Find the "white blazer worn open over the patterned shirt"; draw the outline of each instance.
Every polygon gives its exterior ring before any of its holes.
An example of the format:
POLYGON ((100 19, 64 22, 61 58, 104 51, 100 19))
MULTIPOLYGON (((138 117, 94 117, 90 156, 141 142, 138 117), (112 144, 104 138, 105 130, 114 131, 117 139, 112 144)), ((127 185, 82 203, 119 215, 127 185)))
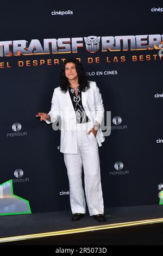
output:
MULTIPOLYGON (((89 132, 96 121, 101 124, 104 117, 103 100, 96 82, 90 81, 90 88, 86 92, 82 92, 82 104, 85 114, 91 120, 87 126, 87 132, 89 132)), ((54 123, 59 117, 61 119, 60 152, 76 154, 76 113, 68 90, 64 93, 60 87, 54 89, 51 111, 48 114, 51 121, 46 120, 47 124, 54 123)), ((97 131, 96 139, 98 146, 101 147, 101 143, 105 141, 101 127, 97 131)))

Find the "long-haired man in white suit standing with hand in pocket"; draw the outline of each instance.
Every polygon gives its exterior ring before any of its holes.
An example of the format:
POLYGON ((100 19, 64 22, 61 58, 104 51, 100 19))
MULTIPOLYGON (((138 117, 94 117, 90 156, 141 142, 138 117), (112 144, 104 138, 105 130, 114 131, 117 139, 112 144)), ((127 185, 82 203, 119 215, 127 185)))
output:
POLYGON ((87 81, 77 59, 67 59, 61 68, 60 86, 54 89, 51 111, 39 112, 36 117, 47 124, 61 119, 60 152, 64 153, 70 185, 72 221, 86 213, 82 167, 89 214, 99 222, 106 220, 98 154, 98 146, 105 140, 100 127, 103 116, 103 100, 96 82, 87 81))

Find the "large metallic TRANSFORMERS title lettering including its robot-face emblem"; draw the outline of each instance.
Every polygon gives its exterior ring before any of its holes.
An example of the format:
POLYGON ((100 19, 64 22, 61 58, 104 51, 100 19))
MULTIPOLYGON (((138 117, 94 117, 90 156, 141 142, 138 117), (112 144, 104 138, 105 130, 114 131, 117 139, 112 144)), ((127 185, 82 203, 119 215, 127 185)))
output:
MULTIPOLYGON (((102 52, 114 51, 162 51, 163 35, 120 35, 120 36, 87 36, 80 38, 46 38, 42 44, 38 39, 0 41, 0 57, 27 56, 37 54, 62 54, 78 53, 78 49, 84 47, 90 53, 99 50, 101 40, 102 52)), ((161 54, 161 52, 159 53, 161 54)))

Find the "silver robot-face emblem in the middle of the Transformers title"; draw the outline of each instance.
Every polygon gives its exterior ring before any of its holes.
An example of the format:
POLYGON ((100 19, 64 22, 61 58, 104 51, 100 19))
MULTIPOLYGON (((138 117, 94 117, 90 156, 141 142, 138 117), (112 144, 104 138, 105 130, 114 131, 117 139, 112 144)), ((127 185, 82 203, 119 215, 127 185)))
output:
POLYGON ((87 36, 87 38, 84 37, 86 50, 90 53, 95 53, 99 50, 99 40, 101 36, 87 36))

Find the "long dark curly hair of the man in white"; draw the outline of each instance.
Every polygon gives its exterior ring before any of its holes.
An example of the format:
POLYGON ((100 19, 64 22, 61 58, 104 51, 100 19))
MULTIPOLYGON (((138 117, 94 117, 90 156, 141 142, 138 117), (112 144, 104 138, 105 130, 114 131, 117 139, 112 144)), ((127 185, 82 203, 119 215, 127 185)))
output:
POLYGON ((80 63, 76 58, 66 59, 63 66, 61 67, 60 88, 62 92, 66 93, 68 90, 68 87, 70 86, 70 83, 68 82, 68 79, 65 75, 65 65, 66 63, 69 63, 69 62, 72 62, 76 65, 76 71, 78 74, 78 83, 82 92, 85 92, 87 89, 90 88, 90 82, 87 80, 82 63, 80 63))

